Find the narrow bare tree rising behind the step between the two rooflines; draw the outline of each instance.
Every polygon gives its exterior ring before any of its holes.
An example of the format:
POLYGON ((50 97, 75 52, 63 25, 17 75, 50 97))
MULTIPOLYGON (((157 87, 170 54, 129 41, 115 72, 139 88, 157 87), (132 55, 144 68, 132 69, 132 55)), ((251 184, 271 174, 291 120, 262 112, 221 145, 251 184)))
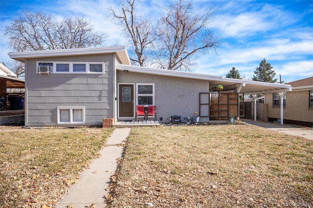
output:
MULTIPOLYGON (((113 20, 117 21, 123 28, 124 34, 134 47, 134 54, 130 50, 130 59, 134 64, 145 66, 150 57, 151 48, 155 37, 152 32, 152 21, 150 18, 138 17, 135 14, 135 1, 120 1, 122 8, 118 13, 111 7, 113 20)), ((139 1, 139 0, 138 0, 139 1)))

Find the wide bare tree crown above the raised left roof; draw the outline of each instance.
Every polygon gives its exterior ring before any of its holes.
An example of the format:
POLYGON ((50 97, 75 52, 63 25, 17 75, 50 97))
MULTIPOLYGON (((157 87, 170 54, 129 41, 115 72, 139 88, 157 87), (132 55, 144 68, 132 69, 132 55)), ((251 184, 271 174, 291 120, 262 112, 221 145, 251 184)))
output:
POLYGON ((22 11, 5 28, 9 45, 16 51, 52 50, 101 46, 104 34, 93 32, 83 17, 53 20, 51 14, 22 11))

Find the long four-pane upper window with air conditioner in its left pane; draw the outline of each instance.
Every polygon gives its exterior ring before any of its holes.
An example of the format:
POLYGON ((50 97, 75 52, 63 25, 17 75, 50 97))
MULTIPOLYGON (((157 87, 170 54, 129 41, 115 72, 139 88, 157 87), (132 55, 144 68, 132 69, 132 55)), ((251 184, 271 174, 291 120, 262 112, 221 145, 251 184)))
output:
POLYGON ((37 73, 104 73, 104 63, 37 62, 37 73))

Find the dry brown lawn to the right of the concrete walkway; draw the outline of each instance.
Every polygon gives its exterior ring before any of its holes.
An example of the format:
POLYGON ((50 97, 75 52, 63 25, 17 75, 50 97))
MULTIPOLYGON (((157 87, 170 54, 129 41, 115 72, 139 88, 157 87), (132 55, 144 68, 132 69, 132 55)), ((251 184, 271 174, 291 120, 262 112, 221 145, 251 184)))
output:
POLYGON ((250 125, 134 128, 116 178, 117 208, 312 207, 313 142, 250 125))

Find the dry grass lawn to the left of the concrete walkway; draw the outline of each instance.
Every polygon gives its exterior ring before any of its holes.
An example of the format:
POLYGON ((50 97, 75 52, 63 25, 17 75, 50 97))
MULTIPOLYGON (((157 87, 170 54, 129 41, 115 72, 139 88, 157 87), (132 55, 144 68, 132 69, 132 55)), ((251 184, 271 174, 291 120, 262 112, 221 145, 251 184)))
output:
POLYGON ((111 132, 0 126, 0 207, 53 207, 111 132))

